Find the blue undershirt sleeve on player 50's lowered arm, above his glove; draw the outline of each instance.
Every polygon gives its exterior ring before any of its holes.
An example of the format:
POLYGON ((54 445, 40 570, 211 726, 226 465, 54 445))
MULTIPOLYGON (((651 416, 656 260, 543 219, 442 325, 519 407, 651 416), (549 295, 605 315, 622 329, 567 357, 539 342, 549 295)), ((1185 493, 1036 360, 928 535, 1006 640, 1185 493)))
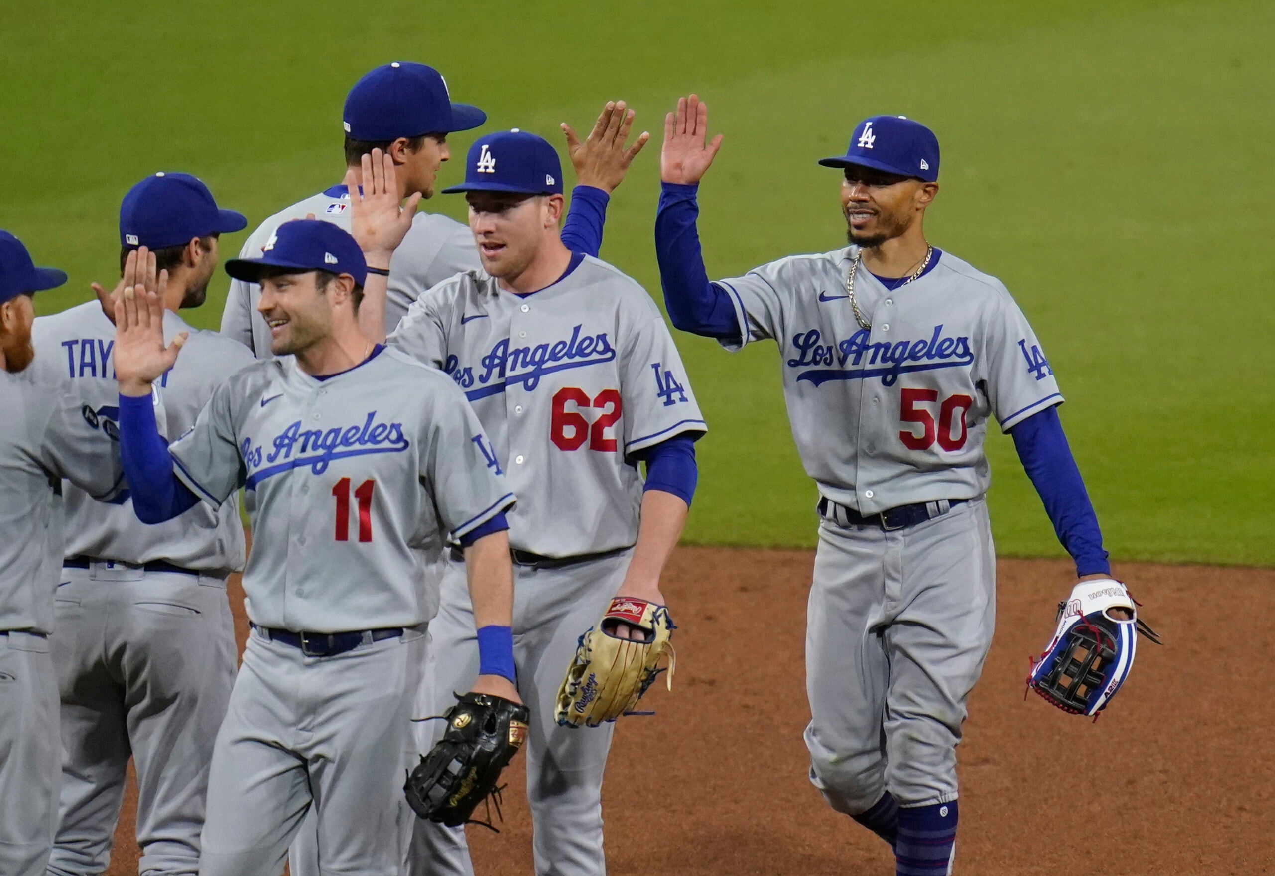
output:
POLYGON ((1071 455, 1057 405, 1031 414, 1010 435, 1058 541, 1076 561, 1076 575, 1109 575, 1098 515, 1071 455))

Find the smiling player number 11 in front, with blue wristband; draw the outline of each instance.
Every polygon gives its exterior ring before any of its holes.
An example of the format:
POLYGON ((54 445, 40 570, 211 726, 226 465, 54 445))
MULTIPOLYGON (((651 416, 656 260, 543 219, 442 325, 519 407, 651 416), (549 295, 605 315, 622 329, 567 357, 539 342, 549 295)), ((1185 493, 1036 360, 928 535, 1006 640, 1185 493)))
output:
MULTIPOLYGON (((411 213, 393 204, 402 237, 411 213)), ((482 625, 473 690, 518 701, 514 499, 463 393, 358 330, 366 266, 346 231, 286 222, 263 249, 226 269, 261 284, 282 358, 223 381, 170 448, 150 395, 182 337, 164 347, 156 295, 125 289, 116 305, 120 453, 139 516, 217 506, 244 487, 254 533, 252 632, 213 748, 200 873, 274 876, 311 806, 320 872, 395 873, 409 704, 437 604, 423 570, 445 534, 464 546, 482 625)))

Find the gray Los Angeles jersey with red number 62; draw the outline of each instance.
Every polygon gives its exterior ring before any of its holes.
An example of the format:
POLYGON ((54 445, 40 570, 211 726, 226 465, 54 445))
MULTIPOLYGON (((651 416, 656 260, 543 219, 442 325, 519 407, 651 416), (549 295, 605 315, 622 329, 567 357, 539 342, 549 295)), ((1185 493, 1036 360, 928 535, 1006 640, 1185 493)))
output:
POLYGON ((510 542, 551 557, 632 544, 634 455, 706 431, 650 296, 604 261, 572 264, 527 296, 478 272, 453 277, 389 339, 465 391, 518 493, 510 542))

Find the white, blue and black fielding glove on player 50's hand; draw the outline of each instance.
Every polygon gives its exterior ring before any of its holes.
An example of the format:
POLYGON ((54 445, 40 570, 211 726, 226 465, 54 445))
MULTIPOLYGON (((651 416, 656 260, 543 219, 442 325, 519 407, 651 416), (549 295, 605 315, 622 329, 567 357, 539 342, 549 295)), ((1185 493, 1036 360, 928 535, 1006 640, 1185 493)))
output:
POLYGON ((1081 581, 1058 603, 1058 627, 1034 661, 1028 686, 1063 712, 1096 715, 1133 667, 1137 634, 1164 644, 1137 617, 1133 598, 1117 580, 1081 581), (1128 612, 1128 618, 1112 615, 1128 612))

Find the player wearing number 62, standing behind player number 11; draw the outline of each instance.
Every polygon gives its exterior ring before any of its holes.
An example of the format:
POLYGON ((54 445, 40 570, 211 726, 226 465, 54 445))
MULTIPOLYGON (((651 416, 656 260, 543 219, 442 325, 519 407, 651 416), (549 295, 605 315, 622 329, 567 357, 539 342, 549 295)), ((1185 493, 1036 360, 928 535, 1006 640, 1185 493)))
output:
MULTIPOLYGON (((518 492, 514 635, 532 706, 536 872, 594 876, 606 872, 601 792, 613 724, 560 727, 555 700, 580 635, 613 597, 664 603, 659 576, 694 493, 704 417, 650 297, 562 242, 562 172, 546 140, 518 130, 479 138, 465 182, 445 191, 465 193, 482 272, 421 296, 389 344, 464 390, 491 436, 491 463, 518 492)), ((479 671, 481 622, 459 560, 430 630, 421 714, 440 714, 479 671)), ((472 873, 463 830, 418 821, 409 871, 472 873)))

